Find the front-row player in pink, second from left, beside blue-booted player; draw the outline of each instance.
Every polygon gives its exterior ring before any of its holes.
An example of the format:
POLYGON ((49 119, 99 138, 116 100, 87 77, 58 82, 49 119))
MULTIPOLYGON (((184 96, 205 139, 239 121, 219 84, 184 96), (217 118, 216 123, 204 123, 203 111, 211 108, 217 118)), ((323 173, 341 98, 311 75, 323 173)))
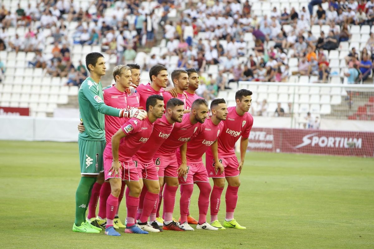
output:
POLYGON ((140 225, 143 230, 148 232, 162 231, 162 228, 160 228, 159 225, 157 225, 157 222, 154 221, 156 220, 155 205, 157 199, 159 198, 160 184, 157 174, 159 167, 155 165, 153 156, 163 142, 170 136, 175 122, 182 122, 184 110, 183 106, 184 103, 181 100, 175 98, 170 99, 168 103, 166 103, 165 115, 154 123, 151 137, 147 143, 145 143, 144 146, 142 146, 141 149, 138 150, 138 152, 132 157, 135 165, 137 165, 138 174, 140 180, 142 180, 141 183, 144 183, 147 191, 144 194, 144 202, 142 207, 138 208, 138 215, 140 214, 138 225, 140 225), (148 214, 150 213, 150 220, 153 221, 151 223, 151 227, 147 225, 148 214))

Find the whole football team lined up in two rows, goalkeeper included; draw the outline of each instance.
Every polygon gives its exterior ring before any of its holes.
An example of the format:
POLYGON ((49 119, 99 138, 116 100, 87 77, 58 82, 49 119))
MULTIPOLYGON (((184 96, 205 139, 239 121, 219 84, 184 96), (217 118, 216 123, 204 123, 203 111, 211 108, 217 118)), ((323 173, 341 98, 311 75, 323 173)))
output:
POLYGON ((81 179, 73 231, 99 233, 105 229, 107 235, 120 236, 115 228, 147 234, 192 231, 190 224, 204 230, 245 229, 234 219, 234 210, 253 124, 248 113, 252 92, 237 91, 236 106, 232 107, 227 107, 224 99, 213 100, 209 117, 208 103, 195 94, 199 87, 196 69, 172 71, 174 87, 166 87, 168 72, 162 65, 150 69, 147 85, 139 84, 139 65, 118 65, 113 69, 115 84, 102 90, 104 57, 89 53, 86 66, 90 76, 78 93, 81 179), (239 138, 238 162, 234 146, 239 138), (225 180, 226 217, 221 225, 218 211, 225 180), (200 190, 198 220, 189 213, 193 184, 200 190), (177 222, 172 214, 178 186, 181 197, 177 222), (123 196, 126 225, 118 217, 123 196), (163 214, 159 215, 162 199, 163 214))

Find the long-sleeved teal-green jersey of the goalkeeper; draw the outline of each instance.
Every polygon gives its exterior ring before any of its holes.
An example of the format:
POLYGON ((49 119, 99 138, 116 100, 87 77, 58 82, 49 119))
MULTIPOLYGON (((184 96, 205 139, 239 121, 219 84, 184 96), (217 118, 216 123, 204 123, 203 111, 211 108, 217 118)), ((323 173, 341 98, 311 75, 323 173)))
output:
POLYGON ((85 131, 79 137, 89 141, 105 140, 104 114, 119 116, 120 109, 104 103, 101 82, 96 83, 91 77, 86 78, 78 91, 80 120, 85 131))

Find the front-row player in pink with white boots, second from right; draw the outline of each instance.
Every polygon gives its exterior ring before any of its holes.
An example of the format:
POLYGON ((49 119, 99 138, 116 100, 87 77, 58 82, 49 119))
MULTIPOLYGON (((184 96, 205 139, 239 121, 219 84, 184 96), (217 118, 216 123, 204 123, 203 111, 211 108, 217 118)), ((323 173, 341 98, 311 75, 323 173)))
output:
MULTIPOLYGON (((181 185, 180 211, 181 211, 181 228, 193 231, 193 228, 187 222, 188 209, 190 207, 193 184, 200 189, 199 195, 199 223, 197 229, 218 230, 206 222, 206 213, 209 207, 209 195, 212 190, 209 184, 208 173, 203 164, 202 155, 217 140, 222 133, 223 122, 227 116, 227 105, 224 99, 215 99, 211 103, 212 116, 207 119, 194 133, 186 147, 181 147, 180 157, 177 153, 178 161, 187 160, 187 172, 179 177, 181 185)), ((223 168, 222 168, 223 170, 223 168)))

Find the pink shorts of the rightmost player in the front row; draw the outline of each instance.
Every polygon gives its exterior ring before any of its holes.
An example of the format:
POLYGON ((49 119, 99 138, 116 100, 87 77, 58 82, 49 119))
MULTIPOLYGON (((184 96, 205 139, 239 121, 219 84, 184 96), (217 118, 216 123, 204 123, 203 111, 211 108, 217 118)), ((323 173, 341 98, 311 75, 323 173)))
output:
POLYGON ((214 159, 212 156, 205 155, 205 164, 206 164, 206 171, 208 172, 209 177, 213 178, 225 178, 225 177, 236 177, 239 175, 239 162, 237 161, 236 156, 231 156, 227 158, 220 159, 221 164, 225 167, 222 174, 220 174, 220 171, 215 172, 214 168, 214 159))

